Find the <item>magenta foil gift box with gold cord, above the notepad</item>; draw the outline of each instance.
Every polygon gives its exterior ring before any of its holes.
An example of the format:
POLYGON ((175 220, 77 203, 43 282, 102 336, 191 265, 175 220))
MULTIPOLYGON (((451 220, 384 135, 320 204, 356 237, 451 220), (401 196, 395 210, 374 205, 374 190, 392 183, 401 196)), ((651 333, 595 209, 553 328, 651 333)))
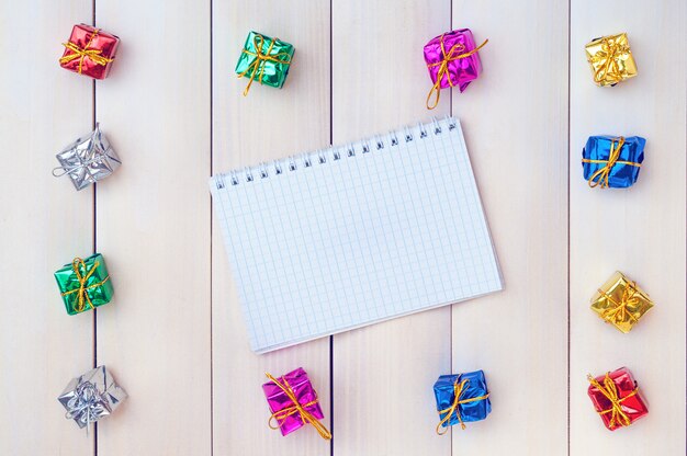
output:
POLYGON ((458 86, 463 92, 470 82, 477 79, 482 72, 477 52, 487 42, 485 39, 475 46, 470 29, 461 29, 439 35, 425 45, 425 62, 433 83, 427 95, 427 109, 437 107, 441 89, 458 86), (432 95, 435 99, 430 102, 432 95))

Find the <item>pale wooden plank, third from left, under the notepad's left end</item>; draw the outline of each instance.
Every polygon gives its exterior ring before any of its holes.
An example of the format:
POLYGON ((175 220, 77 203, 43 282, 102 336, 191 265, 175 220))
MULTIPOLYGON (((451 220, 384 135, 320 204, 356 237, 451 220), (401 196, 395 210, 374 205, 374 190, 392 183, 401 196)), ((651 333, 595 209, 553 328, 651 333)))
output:
MULTIPOLYGON (((329 5, 327 2, 213 2, 213 170, 225 172, 329 141, 329 5), (295 46, 281 90, 234 73, 250 30, 295 46)), ((302 366, 319 395, 330 426, 329 340, 266 355, 250 352, 224 240, 213 229, 213 400, 216 455, 325 455, 329 442, 312 426, 286 437, 268 428, 261 385, 264 373, 282 375, 302 366)))

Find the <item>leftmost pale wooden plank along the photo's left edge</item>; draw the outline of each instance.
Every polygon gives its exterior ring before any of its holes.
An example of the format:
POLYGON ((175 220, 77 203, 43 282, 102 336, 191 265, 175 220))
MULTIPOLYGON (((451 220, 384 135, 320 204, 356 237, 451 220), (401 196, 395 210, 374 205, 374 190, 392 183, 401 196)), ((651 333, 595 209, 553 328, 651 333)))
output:
POLYGON ((68 316, 53 278, 92 252, 93 191, 77 193, 68 178, 50 175, 55 155, 92 127, 91 80, 57 61, 74 23, 90 18, 91 2, 82 0, 0 5, 3 455, 93 453, 93 433, 66 420, 57 401, 91 368, 93 314, 68 316))

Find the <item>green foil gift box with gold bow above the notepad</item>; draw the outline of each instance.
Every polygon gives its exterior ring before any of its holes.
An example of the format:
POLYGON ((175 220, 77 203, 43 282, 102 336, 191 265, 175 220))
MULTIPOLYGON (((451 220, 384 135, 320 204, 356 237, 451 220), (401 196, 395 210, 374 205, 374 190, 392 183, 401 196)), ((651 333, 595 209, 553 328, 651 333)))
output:
POLYGON ((244 96, 248 94, 252 81, 281 89, 284 86, 295 47, 279 38, 271 38, 250 32, 236 64, 239 78, 248 78, 244 96))

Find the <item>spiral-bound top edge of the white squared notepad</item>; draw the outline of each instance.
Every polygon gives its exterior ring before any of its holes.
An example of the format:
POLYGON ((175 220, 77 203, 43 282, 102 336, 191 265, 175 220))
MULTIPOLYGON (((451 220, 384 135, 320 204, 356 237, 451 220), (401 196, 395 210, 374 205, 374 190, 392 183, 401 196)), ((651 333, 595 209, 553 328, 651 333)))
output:
POLYGON ((457 122, 458 121, 454 117, 449 115, 441 119, 432 117, 431 122, 427 124, 420 123, 417 125, 419 137, 414 135, 412 127, 404 127, 390 132, 386 135, 386 138, 375 135, 357 141, 356 144, 349 142, 338 147, 329 146, 327 149, 305 152, 270 162, 262 162, 260 164, 240 168, 224 174, 217 174, 215 176, 215 183, 217 185, 217 190, 222 190, 227 184, 240 185, 241 183, 252 182, 257 179, 267 179, 270 175, 280 175, 284 172, 293 172, 300 168, 312 168, 318 164, 326 164, 329 160, 337 161, 356 157, 357 153, 364 155, 370 153, 373 150, 383 150, 387 146, 391 149, 398 146, 402 140, 405 142, 412 142, 416 139, 424 139, 429 136, 429 133, 440 135, 443 132, 443 128, 448 128, 450 132, 455 128, 457 122), (360 150, 356 150, 357 146, 360 150))

